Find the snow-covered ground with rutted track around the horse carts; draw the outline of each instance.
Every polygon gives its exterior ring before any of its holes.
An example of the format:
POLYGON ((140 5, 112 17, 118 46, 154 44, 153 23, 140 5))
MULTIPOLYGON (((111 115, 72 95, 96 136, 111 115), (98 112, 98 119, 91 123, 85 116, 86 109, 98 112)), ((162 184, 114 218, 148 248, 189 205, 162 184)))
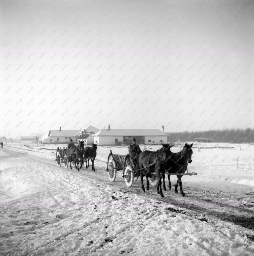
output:
POLYGON ((163 199, 108 180, 109 149, 127 147, 98 147, 96 172, 58 167, 56 145, 19 147, 0 149, 1 255, 253 255, 254 145, 195 144, 198 175, 163 199))

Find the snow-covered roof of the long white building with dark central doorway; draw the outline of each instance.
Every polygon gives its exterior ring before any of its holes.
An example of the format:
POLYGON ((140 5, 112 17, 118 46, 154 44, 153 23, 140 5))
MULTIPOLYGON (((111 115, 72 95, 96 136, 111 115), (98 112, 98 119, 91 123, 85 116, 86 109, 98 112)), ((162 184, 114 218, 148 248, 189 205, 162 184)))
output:
POLYGON ((159 129, 102 129, 93 136, 168 136, 159 129))

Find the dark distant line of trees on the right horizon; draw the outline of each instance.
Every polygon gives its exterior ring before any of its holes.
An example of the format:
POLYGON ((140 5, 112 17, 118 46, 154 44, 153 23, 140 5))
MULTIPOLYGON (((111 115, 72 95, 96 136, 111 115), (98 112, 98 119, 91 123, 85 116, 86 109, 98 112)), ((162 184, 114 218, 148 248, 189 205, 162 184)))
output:
POLYGON ((254 142, 254 129, 245 130, 210 130, 205 132, 166 132, 168 142, 176 141, 195 141, 196 138, 208 138, 215 142, 230 143, 251 143, 254 142))

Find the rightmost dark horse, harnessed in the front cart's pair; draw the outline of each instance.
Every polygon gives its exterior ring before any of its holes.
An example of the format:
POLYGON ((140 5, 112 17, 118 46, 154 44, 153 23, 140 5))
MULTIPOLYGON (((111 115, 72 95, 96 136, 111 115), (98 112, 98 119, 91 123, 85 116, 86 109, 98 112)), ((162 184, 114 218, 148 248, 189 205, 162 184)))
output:
MULTIPOLYGON (((193 143, 191 145, 188 145, 185 143, 185 146, 183 147, 182 151, 179 151, 177 153, 172 153, 171 152, 171 157, 166 163, 166 171, 173 172, 173 173, 184 173, 187 170, 187 165, 188 163, 191 164, 191 156, 192 156, 192 149, 191 147, 193 146, 193 143)), ((178 184, 180 185, 180 192, 182 196, 185 196, 182 188, 182 175, 176 175, 177 177, 177 182, 175 186, 175 193, 178 193, 177 187, 178 184)), ((162 177, 163 180, 163 187, 164 190, 166 190, 165 186, 165 174, 164 177, 162 177)), ((168 174, 168 186, 169 189, 171 189, 171 182, 170 182, 170 174, 168 174)))

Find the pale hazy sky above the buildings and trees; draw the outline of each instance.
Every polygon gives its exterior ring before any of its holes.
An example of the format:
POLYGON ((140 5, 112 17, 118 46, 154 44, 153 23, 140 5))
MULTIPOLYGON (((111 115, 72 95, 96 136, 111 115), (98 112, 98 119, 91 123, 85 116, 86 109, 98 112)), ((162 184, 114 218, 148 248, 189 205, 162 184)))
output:
POLYGON ((253 1, 1 1, 0 135, 254 128, 253 1))

